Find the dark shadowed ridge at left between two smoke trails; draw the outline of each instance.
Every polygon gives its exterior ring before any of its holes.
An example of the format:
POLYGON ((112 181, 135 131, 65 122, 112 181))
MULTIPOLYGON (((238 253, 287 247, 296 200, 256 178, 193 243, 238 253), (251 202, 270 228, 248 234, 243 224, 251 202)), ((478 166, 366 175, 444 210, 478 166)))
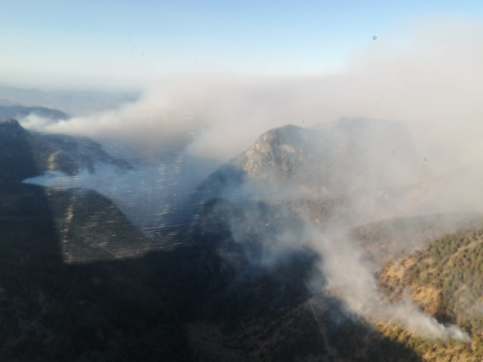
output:
POLYGON ((2 182, 22 181, 45 171, 68 175, 83 169, 93 172, 96 163, 129 167, 126 161, 110 156, 91 139, 31 133, 14 119, 0 123, 0 154, 2 182))

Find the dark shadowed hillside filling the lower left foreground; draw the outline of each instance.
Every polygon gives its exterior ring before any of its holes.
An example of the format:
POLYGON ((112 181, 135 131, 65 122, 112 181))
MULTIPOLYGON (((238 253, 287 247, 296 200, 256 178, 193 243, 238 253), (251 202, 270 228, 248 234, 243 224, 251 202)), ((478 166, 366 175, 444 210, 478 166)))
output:
MULTIPOLYGON (((23 141, 33 137, 11 124, 23 141)), ((42 170, 34 149, 17 154, 23 158, 17 168, 10 163, 9 175, 42 170)), ((299 246, 276 262, 256 258, 276 247, 273 232, 300 227, 277 206, 215 200, 192 226, 146 239, 94 191, 6 176, 2 361, 420 360, 337 298, 307 287, 320 274, 317 253, 299 246), (240 218, 240 230, 226 227, 240 218)))

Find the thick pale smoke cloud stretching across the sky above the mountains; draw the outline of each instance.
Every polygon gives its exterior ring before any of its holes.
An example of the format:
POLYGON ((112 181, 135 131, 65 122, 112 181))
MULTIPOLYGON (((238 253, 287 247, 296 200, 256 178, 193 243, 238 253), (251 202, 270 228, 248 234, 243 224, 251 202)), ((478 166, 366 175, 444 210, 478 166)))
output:
POLYGON ((121 138, 146 152, 187 146, 197 156, 227 161, 284 124, 347 116, 404 120, 421 154, 447 168, 474 161, 481 151, 482 40, 479 23, 435 19, 380 34, 338 74, 171 77, 146 89, 137 103, 40 128, 121 138))

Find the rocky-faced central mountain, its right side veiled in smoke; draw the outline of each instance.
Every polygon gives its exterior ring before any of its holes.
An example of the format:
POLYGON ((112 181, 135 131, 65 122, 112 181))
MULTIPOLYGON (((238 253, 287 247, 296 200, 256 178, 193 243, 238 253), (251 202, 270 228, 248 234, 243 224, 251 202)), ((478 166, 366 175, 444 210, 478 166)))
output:
POLYGON ((313 129, 286 125, 264 133, 200 190, 238 195, 242 183, 254 181, 249 188, 256 183, 261 195, 334 197, 414 182, 425 172, 416 158, 403 123, 351 118, 313 129))

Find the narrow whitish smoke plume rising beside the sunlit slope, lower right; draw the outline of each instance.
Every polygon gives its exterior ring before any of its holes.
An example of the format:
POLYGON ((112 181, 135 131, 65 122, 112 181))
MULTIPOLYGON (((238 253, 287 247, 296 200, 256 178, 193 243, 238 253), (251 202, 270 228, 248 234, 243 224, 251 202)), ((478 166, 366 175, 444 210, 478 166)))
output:
POLYGON ((322 255, 320 265, 327 278, 327 290, 335 292, 347 306, 369 320, 399 322, 428 338, 457 339, 468 342, 469 335, 455 325, 445 326, 426 315, 411 298, 391 304, 378 290, 376 265, 344 233, 327 233, 309 227, 312 247, 322 255))

